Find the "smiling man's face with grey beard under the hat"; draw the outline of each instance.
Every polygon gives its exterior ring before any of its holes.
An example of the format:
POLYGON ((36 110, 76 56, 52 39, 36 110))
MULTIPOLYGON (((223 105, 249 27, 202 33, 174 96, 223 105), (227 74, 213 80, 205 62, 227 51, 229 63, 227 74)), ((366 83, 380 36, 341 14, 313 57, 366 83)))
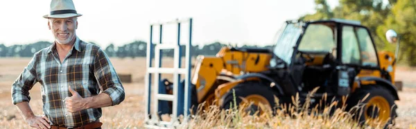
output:
POLYGON ((59 44, 69 44, 75 40, 75 30, 78 27, 76 20, 76 17, 49 19, 48 27, 52 31, 56 42, 59 44))

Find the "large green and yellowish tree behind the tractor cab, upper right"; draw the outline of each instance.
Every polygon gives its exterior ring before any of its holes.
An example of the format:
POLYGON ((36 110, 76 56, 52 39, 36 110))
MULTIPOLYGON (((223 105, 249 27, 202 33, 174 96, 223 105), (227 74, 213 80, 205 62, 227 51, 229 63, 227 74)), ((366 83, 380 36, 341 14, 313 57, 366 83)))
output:
POLYGON ((416 1, 414 0, 339 0, 329 8, 326 0, 315 0, 316 12, 301 20, 350 19, 360 21, 372 33, 377 49, 395 51, 395 44, 385 40, 385 32, 394 29, 401 37, 400 61, 416 66, 416 1))

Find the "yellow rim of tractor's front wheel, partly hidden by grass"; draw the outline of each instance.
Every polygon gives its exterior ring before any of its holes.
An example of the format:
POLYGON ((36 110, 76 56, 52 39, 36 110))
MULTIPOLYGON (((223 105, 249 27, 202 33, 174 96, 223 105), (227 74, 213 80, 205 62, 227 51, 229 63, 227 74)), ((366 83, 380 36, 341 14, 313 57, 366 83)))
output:
POLYGON ((267 98, 264 98, 258 94, 251 94, 246 96, 243 98, 242 103, 240 103, 240 106, 244 107, 244 110, 250 111, 250 114, 254 114, 257 111, 259 111, 259 114, 263 114, 264 112, 259 107, 260 105, 270 107, 270 103, 268 102, 267 98))

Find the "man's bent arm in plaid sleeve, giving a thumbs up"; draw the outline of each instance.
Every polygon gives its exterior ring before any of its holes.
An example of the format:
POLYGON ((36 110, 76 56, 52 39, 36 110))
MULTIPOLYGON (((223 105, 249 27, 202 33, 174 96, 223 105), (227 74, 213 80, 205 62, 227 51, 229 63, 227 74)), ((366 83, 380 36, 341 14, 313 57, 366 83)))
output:
POLYGON ((103 92, 96 96, 83 98, 70 86, 68 89, 72 96, 65 98, 65 105, 69 112, 118 105, 124 100, 125 93, 120 78, 117 76, 110 59, 101 49, 97 50, 95 56, 94 76, 101 85, 103 92))

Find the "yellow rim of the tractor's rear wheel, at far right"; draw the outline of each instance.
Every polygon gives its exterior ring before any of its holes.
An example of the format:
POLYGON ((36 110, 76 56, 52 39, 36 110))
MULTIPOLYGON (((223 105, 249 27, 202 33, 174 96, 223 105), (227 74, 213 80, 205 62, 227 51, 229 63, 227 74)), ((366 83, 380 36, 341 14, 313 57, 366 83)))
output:
POLYGON ((382 96, 374 96, 365 105, 363 114, 370 123, 385 124, 390 118, 390 104, 382 96))

